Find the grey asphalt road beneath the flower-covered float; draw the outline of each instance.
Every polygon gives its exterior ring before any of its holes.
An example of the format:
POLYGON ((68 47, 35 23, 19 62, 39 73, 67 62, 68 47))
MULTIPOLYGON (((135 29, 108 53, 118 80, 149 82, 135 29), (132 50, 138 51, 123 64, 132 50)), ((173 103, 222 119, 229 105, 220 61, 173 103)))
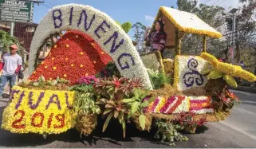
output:
MULTIPOLYGON (((186 134, 187 142, 176 143, 175 147, 256 147, 256 94, 234 91, 242 104, 232 110, 231 116, 220 123, 207 123, 199 127, 196 134, 186 134)), ((0 101, 0 124, 6 102, 0 101)), ((0 147, 169 147, 157 143, 151 133, 137 131, 128 125, 127 138, 122 139, 119 124, 110 124, 101 133, 102 123, 98 125, 93 137, 80 137, 76 130, 61 135, 19 135, 0 129, 0 147)))

